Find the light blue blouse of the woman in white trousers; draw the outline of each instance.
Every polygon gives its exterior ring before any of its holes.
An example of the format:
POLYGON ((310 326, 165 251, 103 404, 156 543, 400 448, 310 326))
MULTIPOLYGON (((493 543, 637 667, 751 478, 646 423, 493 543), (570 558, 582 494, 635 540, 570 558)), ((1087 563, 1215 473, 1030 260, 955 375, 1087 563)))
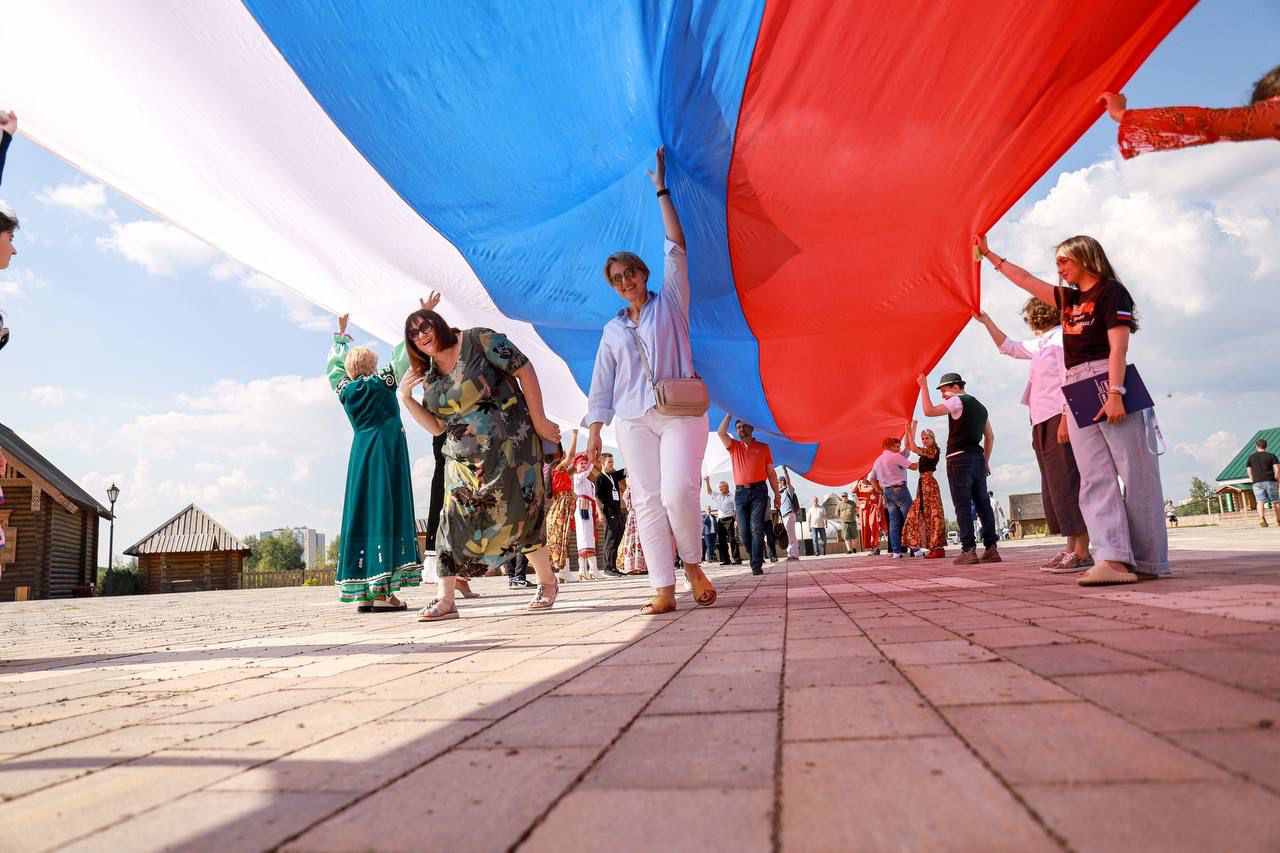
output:
POLYGON ((634 420, 657 405, 632 328, 640 333, 655 380, 694 375, 689 345, 689 256, 669 240, 666 255, 662 291, 649 291, 649 301, 640 309, 640 323, 632 323, 623 307, 604 324, 582 426, 596 421, 609 424, 614 416, 634 420))

